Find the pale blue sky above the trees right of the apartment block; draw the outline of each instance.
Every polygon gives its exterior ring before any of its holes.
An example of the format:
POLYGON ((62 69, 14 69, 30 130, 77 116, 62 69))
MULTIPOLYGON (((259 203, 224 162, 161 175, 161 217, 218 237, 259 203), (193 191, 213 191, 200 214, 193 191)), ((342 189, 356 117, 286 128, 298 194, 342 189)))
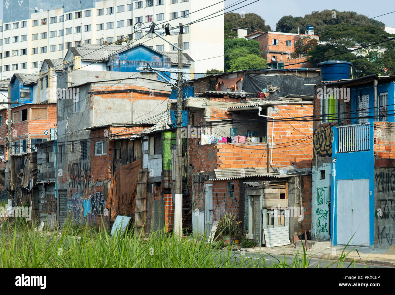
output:
MULTIPOLYGON (((213 2, 216 0, 213 0, 213 2)), ((233 10, 239 8, 245 4, 254 2, 255 0, 247 0, 239 5, 233 6, 226 10, 233 10)), ((237 0, 226 0, 225 6, 229 6, 238 2, 237 0)), ((241 2, 241 1, 240 1, 241 2)), ((395 11, 394 0, 259 0, 254 4, 248 5, 241 9, 236 9, 235 13, 256 13, 260 15, 264 20, 265 24, 269 24, 271 29, 276 29, 277 21, 284 15, 292 15, 293 17, 310 14, 312 11, 322 11, 324 9, 336 9, 337 11, 355 11, 358 14, 366 15, 367 17, 376 17, 384 13, 395 11)), ((382 17, 374 18, 377 21, 381 21, 386 26, 395 27, 395 12, 384 15, 382 17)))

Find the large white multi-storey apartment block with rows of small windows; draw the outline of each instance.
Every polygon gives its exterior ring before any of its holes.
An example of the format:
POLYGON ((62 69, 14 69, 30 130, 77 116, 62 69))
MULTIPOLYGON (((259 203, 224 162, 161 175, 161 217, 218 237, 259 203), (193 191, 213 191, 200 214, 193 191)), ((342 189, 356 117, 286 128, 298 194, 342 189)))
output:
MULTIPOLYGON (((6 0, 0 20, 0 79, 9 79, 13 73, 38 73, 45 58, 63 59, 68 47, 79 43, 102 44, 128 37, 133 45, 172 51, 172 45, 152 34, 141 38, 147 33, 134 33, 134 24, 173 27, 216 11, 214 15, 220 16, 184 27, 183 46, 184 53, 196 61, 196 73, 224 70, 224 2, 206 8, 212 4, 212 0, 6 0), (216 56, 220 57, 212 58, 216 56)), ((176 34, 165 38, 172 44, 178 41, 176 34)))

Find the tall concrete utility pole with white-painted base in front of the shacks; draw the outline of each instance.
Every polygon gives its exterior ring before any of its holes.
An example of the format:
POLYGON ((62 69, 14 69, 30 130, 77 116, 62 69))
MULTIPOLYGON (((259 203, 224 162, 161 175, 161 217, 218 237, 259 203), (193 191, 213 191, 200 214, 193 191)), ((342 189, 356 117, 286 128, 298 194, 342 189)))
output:
MULTIPOLYGON (((178 70, 182 70, 182 24, 178 33, 178 70)), ((182 237, 182 73, 177 73, 177 150, 175 169, 175 200, 174 200, 174 233, 182 237)))

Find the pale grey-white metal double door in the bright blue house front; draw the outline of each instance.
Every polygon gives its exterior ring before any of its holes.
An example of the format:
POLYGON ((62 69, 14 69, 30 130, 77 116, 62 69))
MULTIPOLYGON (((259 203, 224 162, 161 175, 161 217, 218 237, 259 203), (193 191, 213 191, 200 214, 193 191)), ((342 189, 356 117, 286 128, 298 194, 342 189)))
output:
POLYGON ((337 180, 337 244, 369 246, 369 179, 337 180))

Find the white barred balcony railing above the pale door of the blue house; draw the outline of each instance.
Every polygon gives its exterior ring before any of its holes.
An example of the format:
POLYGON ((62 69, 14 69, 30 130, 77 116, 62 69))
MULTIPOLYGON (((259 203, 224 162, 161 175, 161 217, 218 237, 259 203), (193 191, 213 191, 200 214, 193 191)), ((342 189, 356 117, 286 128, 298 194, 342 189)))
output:
POLYGON ((369 126, 355 124, 338 126, 339 152, 358 152, 370 149, 369 126))

